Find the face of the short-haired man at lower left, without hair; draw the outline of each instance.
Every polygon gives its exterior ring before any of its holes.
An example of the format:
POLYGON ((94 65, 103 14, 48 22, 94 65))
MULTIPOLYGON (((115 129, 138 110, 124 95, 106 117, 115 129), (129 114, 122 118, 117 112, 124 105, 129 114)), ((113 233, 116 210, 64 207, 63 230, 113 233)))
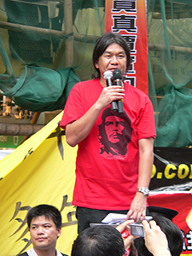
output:
POLYGON ((57 230, 51 218, 38 216, 32 218, 30 235, 34 250, 49 250, 55 248, 56 240, 61 236, 61 228, 57 230))

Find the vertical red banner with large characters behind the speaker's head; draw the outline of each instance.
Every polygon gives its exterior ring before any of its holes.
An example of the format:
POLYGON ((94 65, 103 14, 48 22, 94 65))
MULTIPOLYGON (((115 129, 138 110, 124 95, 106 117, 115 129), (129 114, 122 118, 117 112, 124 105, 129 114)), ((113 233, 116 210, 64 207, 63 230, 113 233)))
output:
POLYGON ((105 32, 120 33, 131 49, 125 80, 148 94, 148 39, 145 0, 106 0, 105 32))

